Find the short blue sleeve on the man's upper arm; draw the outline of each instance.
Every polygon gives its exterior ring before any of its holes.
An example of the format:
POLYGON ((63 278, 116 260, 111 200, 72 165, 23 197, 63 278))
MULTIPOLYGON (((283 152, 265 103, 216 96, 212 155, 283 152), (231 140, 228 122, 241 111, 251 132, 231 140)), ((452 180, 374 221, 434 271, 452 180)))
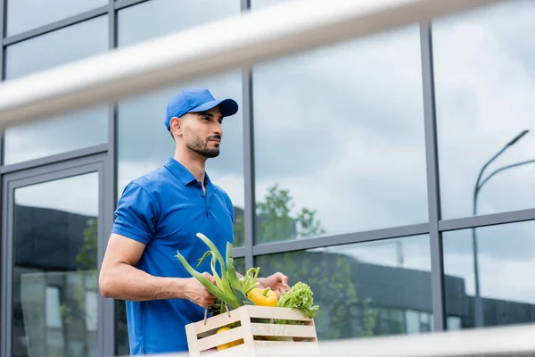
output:
POLYGON ((131 182, 119 198, 111 232, 146 245, 156 231, 157 216, 151 196, 143 187, 131 182))

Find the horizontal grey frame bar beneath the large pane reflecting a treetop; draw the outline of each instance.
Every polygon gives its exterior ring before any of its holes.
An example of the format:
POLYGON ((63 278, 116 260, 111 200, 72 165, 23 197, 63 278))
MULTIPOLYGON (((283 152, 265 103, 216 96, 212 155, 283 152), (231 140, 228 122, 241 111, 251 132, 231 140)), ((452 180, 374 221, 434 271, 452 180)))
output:
POLYGON ((256 256, 320 248, 328 245, 348 245, 351 243, 370 242, 389 238, 417 236, 428 233, 428 229, 429 225, 424 223, 396 228, 384 228, 358 233, 348 233, 339 236, 299 239, 266 245, 254 245, 252 252, 256 256))

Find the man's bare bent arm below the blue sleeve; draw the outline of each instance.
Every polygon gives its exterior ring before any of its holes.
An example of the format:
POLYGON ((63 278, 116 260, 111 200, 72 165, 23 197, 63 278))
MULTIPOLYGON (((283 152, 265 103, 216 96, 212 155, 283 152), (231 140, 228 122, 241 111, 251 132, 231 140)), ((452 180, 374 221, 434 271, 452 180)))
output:
MULTIPOLYGON (((161 278, 134 266, 144 252, 144 245, 128 237, 111 234, 99 276, 103 297, 128 301, 188 299, 200 306, 210 306, 211 295, 194 278, 161 278)), ((213 281, 211 276, 208 276, 213 281)))

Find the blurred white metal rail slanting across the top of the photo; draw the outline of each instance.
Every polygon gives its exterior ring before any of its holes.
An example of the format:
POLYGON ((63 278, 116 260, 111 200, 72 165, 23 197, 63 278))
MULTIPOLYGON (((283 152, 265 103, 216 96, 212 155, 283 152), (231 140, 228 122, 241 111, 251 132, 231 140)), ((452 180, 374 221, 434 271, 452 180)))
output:
POLYGON ((0 129, 505 0, 299 0, 0 85, 0 129))

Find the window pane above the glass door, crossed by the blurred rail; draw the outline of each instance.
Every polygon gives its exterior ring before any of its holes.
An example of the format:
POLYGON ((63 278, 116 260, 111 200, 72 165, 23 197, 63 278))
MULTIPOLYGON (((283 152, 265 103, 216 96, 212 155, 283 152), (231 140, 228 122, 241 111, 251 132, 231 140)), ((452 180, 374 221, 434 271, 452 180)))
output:
MULTIPOLYGON (((44 71, 107 50, 108 19, 102 16, 8 46, 6 79, 44 71)), ((106 143, 107 120, 108 108, 103 105, 10 127, 5 130, 4 163, 106 143)))

